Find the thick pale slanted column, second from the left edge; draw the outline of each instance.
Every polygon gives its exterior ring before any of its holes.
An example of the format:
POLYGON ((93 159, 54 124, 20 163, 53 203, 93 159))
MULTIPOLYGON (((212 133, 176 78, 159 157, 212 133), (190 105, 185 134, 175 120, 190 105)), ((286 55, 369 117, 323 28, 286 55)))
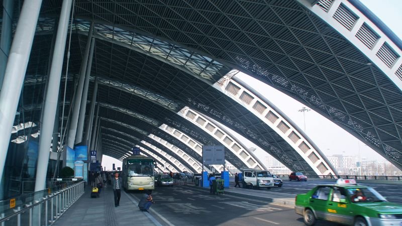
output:
POLYGON ((64 50, 67 40, 68 19, 70 18, 72 0, 63 1, 60 13, 59 26, 57 29, 56 42, 54 45, 52 66, 49 74, 49 85, 46 90, 46 100, 39 140, 38 166, 36 168, 35 191, 46 188, 46 174, 49 163, 49 149, 52 139, 57 101, 59 99, 59 88, 61 70, 63 68, 64 50))

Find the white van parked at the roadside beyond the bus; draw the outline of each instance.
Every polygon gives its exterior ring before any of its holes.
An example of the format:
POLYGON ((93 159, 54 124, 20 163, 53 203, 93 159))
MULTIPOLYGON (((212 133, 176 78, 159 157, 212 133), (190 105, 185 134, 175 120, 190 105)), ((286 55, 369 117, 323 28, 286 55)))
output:
POLYGON ((273 178, 268 170, 256 170, 252 168, 242 168, 243 188, 267 188, 273 187, 273 178))

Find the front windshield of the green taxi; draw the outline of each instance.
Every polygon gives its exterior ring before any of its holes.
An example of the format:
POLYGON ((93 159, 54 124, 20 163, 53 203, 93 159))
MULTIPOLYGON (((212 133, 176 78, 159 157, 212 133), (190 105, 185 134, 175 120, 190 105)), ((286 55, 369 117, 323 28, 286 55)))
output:
POLYGON ((351 202, 383 202, 386 201, 382 195, 371 187, 347 189, 351 202))

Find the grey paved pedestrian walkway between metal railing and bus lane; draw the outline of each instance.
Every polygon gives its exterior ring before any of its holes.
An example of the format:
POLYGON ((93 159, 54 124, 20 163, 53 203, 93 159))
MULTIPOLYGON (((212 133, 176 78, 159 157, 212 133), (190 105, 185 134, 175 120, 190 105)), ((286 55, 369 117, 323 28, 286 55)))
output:
POLYGON ((122 191, 120 206, 115 207, 113 190, 103 188, 99 198, 90 197, 90 186, 85 187, 85 193, 71 206, 53 225, 79 226, 79 225, 155 225, 149 213, 141 212, 122 191))

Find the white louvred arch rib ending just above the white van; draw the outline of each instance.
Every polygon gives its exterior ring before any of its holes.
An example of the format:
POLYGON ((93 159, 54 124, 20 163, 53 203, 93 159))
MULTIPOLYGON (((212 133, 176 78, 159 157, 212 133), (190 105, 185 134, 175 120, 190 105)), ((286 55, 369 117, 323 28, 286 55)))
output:
POLYGON ((242 147, 231 135, 227 134, 224 130, 213 122, 209 121, 205 117, 198 114, 198 112, 184 107, 177 115, 188 120, 195 126, 201 128, 205 132, 209 133, 215 139, 220 141, 226 148, 228 148, 233 154, 239 156, 239 158, 247 165, 247 167, 254 169, 266 169, 263 164, 260 163, 246 148, 242 147))

